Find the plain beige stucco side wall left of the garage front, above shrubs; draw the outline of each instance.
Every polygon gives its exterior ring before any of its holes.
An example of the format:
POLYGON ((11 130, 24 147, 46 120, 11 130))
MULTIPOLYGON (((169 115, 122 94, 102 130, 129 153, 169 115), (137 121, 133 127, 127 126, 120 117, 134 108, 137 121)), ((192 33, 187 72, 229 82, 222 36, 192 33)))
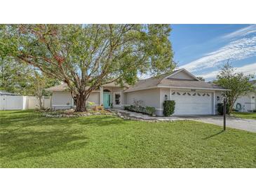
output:
POLYGON ((142 101, 142 106, 160 108, 160 89, 137 90, 126 93, 126 104, 134 104, 134 100, 142 101))

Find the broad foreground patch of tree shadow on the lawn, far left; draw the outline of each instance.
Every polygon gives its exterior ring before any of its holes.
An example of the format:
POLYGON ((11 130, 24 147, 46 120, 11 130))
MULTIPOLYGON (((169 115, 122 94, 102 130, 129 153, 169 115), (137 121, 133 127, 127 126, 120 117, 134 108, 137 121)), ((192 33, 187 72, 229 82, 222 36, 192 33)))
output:
POLYGON ((24 130, 15 129, 2 132, 0 137, 0 157, 10 160, 20 158, 47 156, 58 151, 80 149, 88 143, 83 130, 53 129, 24 130))

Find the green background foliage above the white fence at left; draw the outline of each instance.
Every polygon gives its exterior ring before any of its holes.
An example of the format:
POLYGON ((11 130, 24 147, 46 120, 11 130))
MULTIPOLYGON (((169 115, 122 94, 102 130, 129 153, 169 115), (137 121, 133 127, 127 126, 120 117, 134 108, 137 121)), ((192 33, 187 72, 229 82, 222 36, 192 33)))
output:
POLYGON ((0 58, 0 90, 43 97, 50 95, 45 89, 59 82, 48 78, 41 71, 10 57, 0 58))

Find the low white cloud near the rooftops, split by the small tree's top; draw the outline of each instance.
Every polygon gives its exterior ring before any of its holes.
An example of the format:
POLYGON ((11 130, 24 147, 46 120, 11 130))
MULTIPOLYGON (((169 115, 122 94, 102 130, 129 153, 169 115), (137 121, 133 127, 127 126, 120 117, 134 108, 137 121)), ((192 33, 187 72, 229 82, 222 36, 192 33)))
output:
MULTIPOLYGON (((208 74, 201 74, 203 78, 216 78, 219 71, 212 71, 208 74)), ((243 67, 236 67, 236 72, 243 72, 244 74, 255 74, 256 73, 256 62, 252 64, 246 64, 243 67)))

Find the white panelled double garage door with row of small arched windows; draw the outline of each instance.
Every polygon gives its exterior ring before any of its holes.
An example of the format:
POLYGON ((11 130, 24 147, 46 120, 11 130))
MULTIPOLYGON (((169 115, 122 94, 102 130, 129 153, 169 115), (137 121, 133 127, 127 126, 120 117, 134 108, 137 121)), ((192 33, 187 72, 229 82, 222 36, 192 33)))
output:
POLYGON ((175 100, 174 115, 213 114, 213 94, 210 92, 173 91, 170 100, 175 100))

